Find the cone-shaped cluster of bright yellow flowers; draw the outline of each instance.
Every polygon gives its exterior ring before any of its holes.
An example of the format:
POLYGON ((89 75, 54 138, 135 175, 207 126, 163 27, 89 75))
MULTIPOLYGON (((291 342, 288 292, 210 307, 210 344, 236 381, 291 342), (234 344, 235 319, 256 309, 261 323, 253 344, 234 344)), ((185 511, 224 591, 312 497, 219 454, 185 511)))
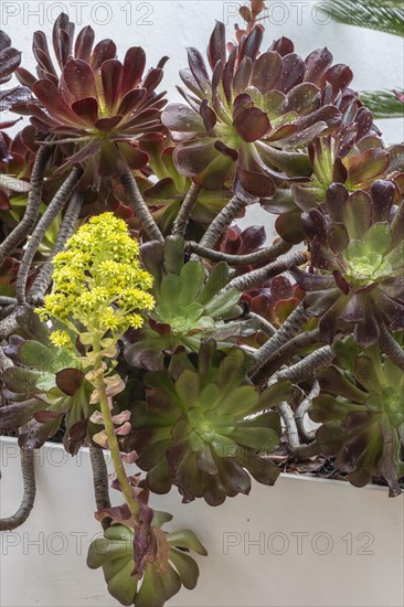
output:
MULTIPOLYGON (((92 217, 53 259, 53 291, 38 313, 70 327, 75 321, 91 332, 115 339, 142 326, 141 310, 151 310, 152 276, 140 267, 139 244, 126 223, 113 213, 92 217)), ((68 334, 52 334, 55 345, 67 345, 68 334)), ((70 339, 70 338, 68 338, 70 339)))

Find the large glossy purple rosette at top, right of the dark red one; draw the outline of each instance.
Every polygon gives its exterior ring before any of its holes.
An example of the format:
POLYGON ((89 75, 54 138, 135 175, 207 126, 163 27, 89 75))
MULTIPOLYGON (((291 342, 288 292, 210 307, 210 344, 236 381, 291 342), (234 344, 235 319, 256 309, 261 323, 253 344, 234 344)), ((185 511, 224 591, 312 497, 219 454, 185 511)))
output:
POLYGON ((339 124, 352 72, 332 65, 327 49, 306 61, 288 39, 259 54, 263 28, 256 25, 226 52, 223 23, 208 49, 209 74, 196 49, 189 49, 189 70, 179 88, 188 105, 170 104, 163 124, 178 140, 174 162, 181 174, 208 189, 234 177, 257 198, 275 192, 275 181, 311 174, 306 147, 339 124))

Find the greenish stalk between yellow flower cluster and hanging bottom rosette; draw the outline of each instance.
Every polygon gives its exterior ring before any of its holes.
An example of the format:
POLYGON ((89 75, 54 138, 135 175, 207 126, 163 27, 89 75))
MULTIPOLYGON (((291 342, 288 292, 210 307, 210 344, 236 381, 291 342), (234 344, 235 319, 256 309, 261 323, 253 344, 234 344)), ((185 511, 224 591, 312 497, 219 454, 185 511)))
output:
POLYGON ((115 434, 115 426, 110 414, 109 402, 108 402, 108 396, 105 388, 103 373, 97 377, 96 387, 98 388, 99 404, 100 404, 100 409, 104 417, 105 432, 108 438, 108 448, 109 448, 110 457, 114 464, 116 478, 119 482, 120 490, 124 493, 126 503, 128 504, 128 508, 131 514, 134 515, 135 519, 138 519, 139 507, 134 498, 134 491, 129 483, 128 477, 126 476, 124 462, 120 457, 119 444, 115 434))

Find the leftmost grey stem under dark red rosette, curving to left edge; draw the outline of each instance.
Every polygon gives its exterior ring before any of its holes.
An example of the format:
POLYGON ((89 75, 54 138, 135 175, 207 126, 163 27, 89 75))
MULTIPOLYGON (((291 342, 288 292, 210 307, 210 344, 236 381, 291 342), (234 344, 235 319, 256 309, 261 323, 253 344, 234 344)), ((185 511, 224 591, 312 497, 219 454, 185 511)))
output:
POLYGON ((14 230, 7 236, 0 245, 0 264, 10 255, 31 232, 40 209, 43 178, 45 174, 46 162, 52 153, 52 147, 41 146, 36 152, 32 175, 30 181, 30 191, 24 216, 14 230))

